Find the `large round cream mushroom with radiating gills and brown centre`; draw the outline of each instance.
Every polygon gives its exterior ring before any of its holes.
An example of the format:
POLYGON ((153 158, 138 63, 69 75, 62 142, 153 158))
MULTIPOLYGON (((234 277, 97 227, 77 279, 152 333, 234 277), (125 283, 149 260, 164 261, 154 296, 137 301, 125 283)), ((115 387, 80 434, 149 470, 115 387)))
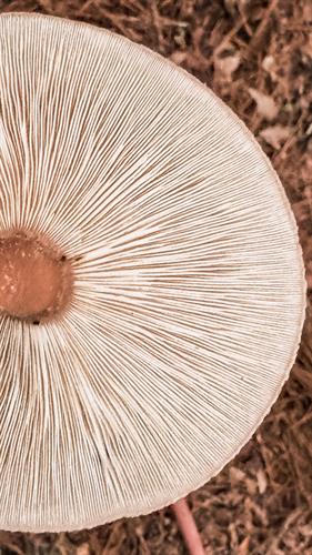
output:
POLYGON ((142 46, 0 17, 0 528, 165 506, 293 364, 298 230, 244 124, 142 46))

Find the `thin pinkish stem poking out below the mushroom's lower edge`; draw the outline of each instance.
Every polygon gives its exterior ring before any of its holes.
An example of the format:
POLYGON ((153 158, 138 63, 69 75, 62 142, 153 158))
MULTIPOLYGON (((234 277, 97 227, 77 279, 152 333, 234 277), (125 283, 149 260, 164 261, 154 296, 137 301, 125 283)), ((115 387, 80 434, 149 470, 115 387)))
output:
POLYGON ((171 508, 175 515, 190 555, 204 555, 202 541, 187 500, 177 501, 171 505, 171 508))

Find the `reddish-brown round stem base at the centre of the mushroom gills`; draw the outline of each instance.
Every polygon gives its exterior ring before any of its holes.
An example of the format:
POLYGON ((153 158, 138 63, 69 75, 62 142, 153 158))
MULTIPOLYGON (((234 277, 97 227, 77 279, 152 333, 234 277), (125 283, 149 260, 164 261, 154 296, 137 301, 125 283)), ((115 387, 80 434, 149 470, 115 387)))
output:
POLYGON ((67 307, 72 292, 70 262, 41 238, 0 238, 0 311, 13 317, 50 320, 67 307))

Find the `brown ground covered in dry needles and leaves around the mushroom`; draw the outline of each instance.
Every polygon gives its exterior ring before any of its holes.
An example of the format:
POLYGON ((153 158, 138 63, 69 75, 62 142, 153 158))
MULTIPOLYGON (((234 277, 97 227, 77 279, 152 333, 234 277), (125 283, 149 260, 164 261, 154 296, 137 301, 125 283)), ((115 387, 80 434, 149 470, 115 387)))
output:
MULTIPOLYGON (((0 1, 1 12, 12 10, 111 28, 171 58, 245 121, 272 160, 296 216, 306 264, 302 345, 271 414, 235 461, 190 503, 207 554, 312 554, 311 0, 0 1)), ((187 552, 165 509, 74 534, 2 532, 0 553, 187 552)))

